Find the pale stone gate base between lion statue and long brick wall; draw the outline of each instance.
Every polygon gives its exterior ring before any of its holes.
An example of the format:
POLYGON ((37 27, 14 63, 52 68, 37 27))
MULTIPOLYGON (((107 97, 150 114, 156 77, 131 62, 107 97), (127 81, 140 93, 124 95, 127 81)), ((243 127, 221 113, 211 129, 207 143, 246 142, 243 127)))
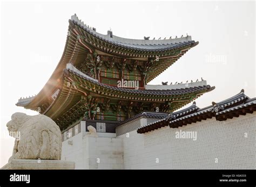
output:
POLYGON ((62 160, 74 161, 75 169, 124 168, 123 139, 112 138, 114 133, 97 133, 98 138, 86 134, 81 132, 62 142, 62 160))

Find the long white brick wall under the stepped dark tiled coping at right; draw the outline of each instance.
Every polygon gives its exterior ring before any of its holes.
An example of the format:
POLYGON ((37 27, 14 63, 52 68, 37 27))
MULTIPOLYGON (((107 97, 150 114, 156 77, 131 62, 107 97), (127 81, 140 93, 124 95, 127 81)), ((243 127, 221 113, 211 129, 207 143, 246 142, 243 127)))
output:
POLYGON ((256 169, 255 136, 256 112, 118 138, 124 142, 125 169, 256 169), (177 139, 180 130, 197 132, 197 140, 177 139))

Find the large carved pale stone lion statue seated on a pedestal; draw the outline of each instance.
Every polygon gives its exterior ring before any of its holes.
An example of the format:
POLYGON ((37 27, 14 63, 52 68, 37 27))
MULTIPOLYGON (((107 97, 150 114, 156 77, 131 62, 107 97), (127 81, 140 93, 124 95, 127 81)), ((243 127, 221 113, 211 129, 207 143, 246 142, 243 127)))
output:
POLYGON ((57 124, 44 115, 28 116, 25 113, 14 113, 6 124, 10 135, 14 132, 15 145, 12 159, 60 160, 62 139, 57 124))

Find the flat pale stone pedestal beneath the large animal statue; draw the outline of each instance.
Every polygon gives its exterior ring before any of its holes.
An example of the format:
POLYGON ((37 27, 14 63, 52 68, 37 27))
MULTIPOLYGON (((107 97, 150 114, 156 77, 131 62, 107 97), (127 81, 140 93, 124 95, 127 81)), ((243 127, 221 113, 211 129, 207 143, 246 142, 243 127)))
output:
POLYGON ((75 162, 63 160, 14 159, 1 169, 75 169, 75 162))

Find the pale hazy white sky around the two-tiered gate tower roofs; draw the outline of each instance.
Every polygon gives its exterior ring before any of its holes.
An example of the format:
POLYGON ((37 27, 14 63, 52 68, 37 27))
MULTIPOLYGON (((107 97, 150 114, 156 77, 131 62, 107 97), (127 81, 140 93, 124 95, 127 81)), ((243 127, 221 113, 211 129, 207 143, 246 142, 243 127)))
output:
MULTIPOLYGON (((18 107, 20 97, 37 94, 62 56, 68 20, 124 38, 192 36, 199 45, 150 84, 196 81, 215 86, 196 100, 199 107, 219 102, 242 88, 255 97, 255 2, 2 2, 0 167, 8 162, 14 138, 11 114, 37 114, 18 107)), ((188 104, 191 105, 191 104, 188 104)))

